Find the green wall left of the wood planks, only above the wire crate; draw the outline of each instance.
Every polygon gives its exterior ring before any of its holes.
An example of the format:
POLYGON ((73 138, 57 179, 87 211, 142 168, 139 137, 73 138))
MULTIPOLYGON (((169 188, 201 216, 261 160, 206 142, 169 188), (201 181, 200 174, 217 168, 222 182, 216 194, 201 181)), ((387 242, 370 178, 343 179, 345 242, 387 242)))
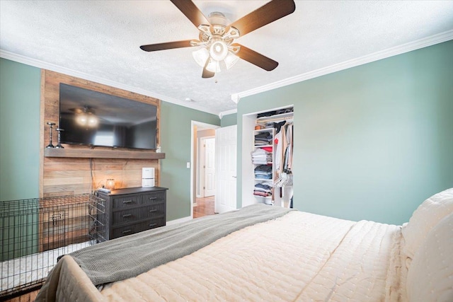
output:
POLYGON ((0 200, 39 194, 40 69, 0 58, 0 200))

